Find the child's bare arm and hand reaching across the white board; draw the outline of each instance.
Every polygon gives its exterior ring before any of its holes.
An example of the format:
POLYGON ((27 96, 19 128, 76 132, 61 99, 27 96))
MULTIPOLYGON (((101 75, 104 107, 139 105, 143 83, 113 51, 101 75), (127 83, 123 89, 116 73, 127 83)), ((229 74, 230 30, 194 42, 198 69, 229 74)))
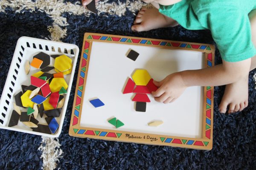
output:
POLYGON ((240 62, 225 62, 211 68, 186 70, 170 74, 161 82, 154 82, 159 88, 152 92, 157 102, 175 101, 189 86, 218 86, 247 79, 251 59, 240 62))

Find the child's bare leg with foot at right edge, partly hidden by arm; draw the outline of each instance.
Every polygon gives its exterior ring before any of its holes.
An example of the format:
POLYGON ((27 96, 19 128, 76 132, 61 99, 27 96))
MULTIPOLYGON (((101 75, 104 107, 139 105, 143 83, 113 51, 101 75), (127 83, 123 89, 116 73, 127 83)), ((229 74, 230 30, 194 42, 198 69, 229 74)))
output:
MULTIPOLYGON (((252 31, 252 40, 256 46, 256 10, 250 13, 250 23, 252 31)), ((250 71, 256 68, 256 56, 251 58, 250 71)), ((224 95, 219 105, 221 113, 242 111, 248 105, 248 78, 241 79, 238 82, 226 85, 224 95)))

